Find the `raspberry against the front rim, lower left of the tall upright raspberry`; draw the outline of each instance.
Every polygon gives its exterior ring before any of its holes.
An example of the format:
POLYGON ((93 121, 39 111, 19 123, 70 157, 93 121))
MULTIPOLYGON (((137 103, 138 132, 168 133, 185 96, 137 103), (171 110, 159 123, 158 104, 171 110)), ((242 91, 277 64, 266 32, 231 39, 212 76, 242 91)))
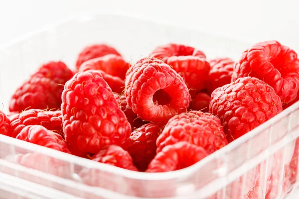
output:
POLYGON ((70 153, 65 141, 59 134, 47 130, 40 125, 29 125, 24 127, 16 136, 16 139, 55 149, 64 153, 70 153))

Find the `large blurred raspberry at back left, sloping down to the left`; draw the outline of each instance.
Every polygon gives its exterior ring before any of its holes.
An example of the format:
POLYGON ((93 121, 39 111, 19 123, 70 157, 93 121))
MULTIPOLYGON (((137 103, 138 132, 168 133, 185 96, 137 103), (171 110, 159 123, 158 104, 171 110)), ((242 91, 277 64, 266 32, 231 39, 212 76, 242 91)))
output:
POLYGON ((59 108, 63 87, 71 79, 73 72, 63 62, 49 62, 42 65, 28 81, 12 96, 9 111, 30 108, 59 108))

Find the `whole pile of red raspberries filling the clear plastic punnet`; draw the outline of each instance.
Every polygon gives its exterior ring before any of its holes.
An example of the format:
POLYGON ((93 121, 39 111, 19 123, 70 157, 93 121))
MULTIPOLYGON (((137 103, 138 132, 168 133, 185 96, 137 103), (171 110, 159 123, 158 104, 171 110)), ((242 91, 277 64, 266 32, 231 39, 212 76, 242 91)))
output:
MULTIPOLYGON (((236 62, 208 60, 201 50, 170 43, 132 64, 115 48, 94 44, 80 52, 75 70, 61 61, 41 65, 16 89, 10 112, 0 111, 0 133, 136 172, 170 172, 279 114, 299 100, 298 92, 299 59, 278 41, 257 43, 236 62)), ((42 170, 32 163, 39 158, 9 160, 42 170)), ((55 164, 48 166, 60 175, 55 164)), ((287 164, 286 190, 296 182, 298 161, 287 164)), ((92 185, 88 174, 81 176, 92 185)), ((269 199, 279 175, 273 166, 269 199)), ((259 190, 259 176, 252 178, 243 190, 247 198, 259 190)))

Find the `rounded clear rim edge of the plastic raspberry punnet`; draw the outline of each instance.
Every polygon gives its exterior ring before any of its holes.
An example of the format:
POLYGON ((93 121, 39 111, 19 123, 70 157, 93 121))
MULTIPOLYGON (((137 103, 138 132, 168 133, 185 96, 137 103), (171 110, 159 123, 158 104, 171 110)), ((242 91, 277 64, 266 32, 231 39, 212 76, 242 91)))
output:
MULTIPOLYGON (((72 20, 89 20, 94 16, 100 16, 100 15, 106 15, 106 16, 120 16, 120 17, 130 17, 130 18, 135 18, 135 19, 140 19, 140 20, 145 20, 145 21, 150 21, 150 22, 154 22, 154 23, 158 23, 158 24, 164 24, 167 26, 172 26, 172 27, 178 27, 178 28, 184 28, 187 30, 193 30, 193 31, 199 31, 193 28, 185 28, 183 26, 178 26, 175 24, 169 24, 166 21, 156 21, 156 20, 151 20, 148 17, 140 17, 137 14, 132 14, 132 13, 122 13, 122 12, 118 12, 116 13, 115 11, 108 11, 105 10, 101 13, 99 13, 99 11, 97 10, 97 12, 93 12, 93 11, 89 11, 89 12, 82 12, 71 15, 69 17, 66 17, 62 20, 59 20, 56 23, 52 23, 49 25, 44 25, 36 30, 30 31, 27 34, 24 34, 20 37, 17 37, 15 39, 12 39, 11 41, 4 43, 2 45, 0 45, 0 51, 5 51, 5 49, 11 45, 14 45, 18 42, 21 42, 31 36, 34 36, 38 33, 42 33, 45 31, 48 31, 52 28, 55 28, 56 26, 62 25, 64 23, 67 23, 69 21, 72 20)), ((202 31, 200 31, 202 32, 202 31)), ((205 33, 205 32, 202 32, 205 33)), ((210 33, 207 33, 210 34, 210 33)), ((213 35, 213 34, 210 34, 213 35)), ((238 41, 236 39, 231 39, 228 37, 223 37, 223 36, 218 36, 218 35, 214 35, 216 37, 221 37, 221 38, 226 38, 226 39, 230 39, 230 40, 235 40, 238 41)), ((198 171, 200 168, 204 167, 206 164, 208 164, 209 162, 211 162, 212 160, 216 159, 216 158, 222 158, 224 157, 224 154, 230 152, 231 150, 237 148, 238 146, 242 145, 244 142, 250 140, 252 137, 256 136, 257 134, 261 133, 264 129, 270 127, 271 125, 279 122, 281 119, 283 119, 285 116, 291 114, 293 111, 298 110, 299 109, 299 101, 296 102, 295 104, 293 104, 292 106, 288 107, 287 109, 285 109, 284 111, 282 111, 280 114, 276 115, 275 117, 271 118, 270 120, 266 121, 265 123, 261 124, 260 126, 258 126, 257 128, 253 129, 252 131, 250 131, 249 133, 243 135, 242 137, 238 138, 237 140, 231 142, 230 144, 228 144, 227 146, 221 148, 220 150, 212 153, 211 155, 207 156, 206 158, 204 158, 203 160, 199 161, 198 163, 185 168, 185 169, 181 169, 178 171, 172 171, 172 172, 166 172, 166 173, 143 173, 143 172, 135 172, 135 171, 130 171, 130 170, 126 170, 126 169, 122 169, 122 168, 118 168, 118 167, 113 167, 111 165, 107 165, 107 164, 103 164, 103 163, 98 163, 98 162, 94 162, 92 160, 88 160, 88 159, 84 159, 84 158, 80 158, 74 155, 70 155, 70 154, 66 154, 60 151, 55 151, 46 147, 42 147, 39 145, 35 145, 35 144, 31 144, 28 142, 24 142, 22 140, 17 140, 15 138, 11 138, 11 137, 7 137, 5 135, 1 135, 0 134, 0 141, 6 144, 10 144, 13 145, 15 147, 21 147, 24 149, 27 149, 29 151, 38 151, 39 153, 45 154, 47 156, 53 157, 53 158, 57 158, 63 161, 68 161, 70 163, 74 163, 83 167, 88 167, 88 168, 95 168, 95 169, 99 169, 99 170, 103 170, 106 172, 110 172, 113 173, 115 175, 119 175, 119 176, 123 176, 129 179, 136 179, 136 180, 148 180, 148 181, 162 181, 162 180, 170 180, 170 179, 179 179, 181 178, 181 176, 184 177, 189 177, 192 176, 194 174, 194 172, 198 171)), ((245 172, 245 171, 244 171, 245 172)))

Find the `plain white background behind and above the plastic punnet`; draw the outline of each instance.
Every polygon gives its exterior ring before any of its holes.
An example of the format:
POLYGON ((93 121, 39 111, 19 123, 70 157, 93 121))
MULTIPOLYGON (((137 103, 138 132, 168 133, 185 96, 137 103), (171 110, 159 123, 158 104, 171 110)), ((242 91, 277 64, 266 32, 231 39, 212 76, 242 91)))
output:
POLYGON ((0 45, 92 8, 249 42, 276 39, 299 51, 298 5, 296 0, 0 0, 0 45))

